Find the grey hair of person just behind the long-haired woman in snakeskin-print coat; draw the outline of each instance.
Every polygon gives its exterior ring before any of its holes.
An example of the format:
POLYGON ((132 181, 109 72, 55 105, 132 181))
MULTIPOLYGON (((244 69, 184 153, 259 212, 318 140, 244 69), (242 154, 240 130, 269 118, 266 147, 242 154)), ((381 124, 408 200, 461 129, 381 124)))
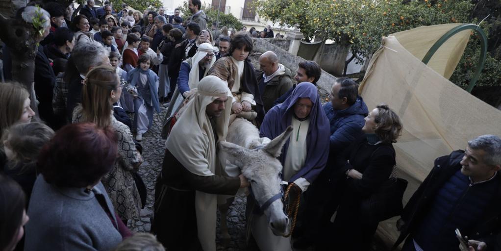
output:
POLYGON ((108 55, 108 50, 98 42, 78 43, 71 52, 75 66, 81 74, 87 74, 90 67, 102 65, 102 59, 108 55))

